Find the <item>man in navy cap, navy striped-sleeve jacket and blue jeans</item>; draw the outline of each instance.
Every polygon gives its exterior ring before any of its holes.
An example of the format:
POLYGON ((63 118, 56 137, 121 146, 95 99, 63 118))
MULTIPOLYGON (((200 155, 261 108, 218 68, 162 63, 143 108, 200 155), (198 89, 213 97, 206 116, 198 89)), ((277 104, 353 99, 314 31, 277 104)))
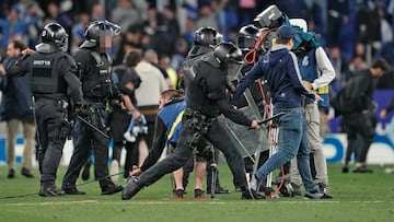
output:
POLYGON ((278 149, 254 174, 251 188, 258 190, 258 186, 270 172, 297 155, 298 167, 306 190, 304 196, 311 199, 323 198, 324 195, 315 190, 311 176, 306 125, 301 108, 302 95, 317 101, 322 101, 322 97, 303 85, 297 57, 289 51, 293 46, 294 28, 282 25, 277 30, 277 34, 276 45, 246 73, 233 97, 233 104, 237 104, 245 89, 259 77, 264 77, 271 90, 274 114, 286 113, 279 118, 281 138, 283 138, 282 148, 278 149))

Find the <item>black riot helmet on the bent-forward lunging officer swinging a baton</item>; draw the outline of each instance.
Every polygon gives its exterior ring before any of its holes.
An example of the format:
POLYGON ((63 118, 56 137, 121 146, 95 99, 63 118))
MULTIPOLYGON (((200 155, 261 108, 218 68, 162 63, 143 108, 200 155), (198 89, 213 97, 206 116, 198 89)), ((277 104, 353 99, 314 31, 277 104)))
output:
POLYGON ((242 65, 243 56, 239 47, 232 43, 220 43, 215 50, 202 58, 216 68, 224 68, 230 63, 242 65))

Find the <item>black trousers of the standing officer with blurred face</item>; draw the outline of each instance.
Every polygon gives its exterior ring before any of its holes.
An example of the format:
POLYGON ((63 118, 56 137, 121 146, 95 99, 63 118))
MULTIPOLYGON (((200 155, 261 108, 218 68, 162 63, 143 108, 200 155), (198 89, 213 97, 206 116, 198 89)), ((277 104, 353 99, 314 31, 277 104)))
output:
MULTIPOLYGON (((90 118, 101 119, 102 115, 100 112, 90 114, 90 118)), ((79 121, 78 135, 79 139, 73 150, 70 165, 67 168, 66 175, 62 180, 62 189, 69 189, 76 187, 76 182, 80 175, 81 168, 86 162, 88 157, 93 150, 94 154, 94 173, 99 178, 99 184, 102 189, 107 186, 114 185, 108 177, 108 147, 109 139, 105 138, 95 129, 89 127, 86 124, 79 121)), ((95 124, 94 124, 95 125, 95 124)), ((105 126, 97 124, 95 125, 100 130, 105 131, 105 126)))

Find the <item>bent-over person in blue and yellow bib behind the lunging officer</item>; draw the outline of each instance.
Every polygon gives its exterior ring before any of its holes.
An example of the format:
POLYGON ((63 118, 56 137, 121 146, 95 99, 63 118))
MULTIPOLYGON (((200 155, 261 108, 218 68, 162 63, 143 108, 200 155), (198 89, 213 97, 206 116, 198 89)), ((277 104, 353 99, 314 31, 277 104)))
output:
MULTIPOLYGON (((162 92, 159 106, 160 112, 157 116, 154 124, 154 137, 152 148, 150 149, 149 154, 143 161, 141 167, 136 168, 131 172, 132 176, 138 176, 142 172, 153 166, 162 155, 165 144, 169 145, 167 148, 171 151, 174 151, 174 149, 176 148, 176 143, 181 138, 182 117, 185 108, 186 102, 184 100, 184 93, 182 90, 166 90, 162 92)), ((202 176, 206 171, 206 159, 210 152, 210 147, 206 145, 205 140, 199 140, 196 147, 197 152, 195 198, 204 198, 202 176)), ((185 166, 172 173, 175 185, 175 188, 173 190, 174 198, 183 198, 184 195, 184 167, 185 166)))

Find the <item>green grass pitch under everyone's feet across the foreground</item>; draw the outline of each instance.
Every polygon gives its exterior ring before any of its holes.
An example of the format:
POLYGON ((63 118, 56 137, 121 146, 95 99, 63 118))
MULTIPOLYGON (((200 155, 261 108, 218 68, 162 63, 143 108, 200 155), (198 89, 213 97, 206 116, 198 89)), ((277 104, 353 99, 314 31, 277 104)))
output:
MULTIPOLYGON (((36 177, 33 179, 21 176, 20 168, 16 178, 8 179, 7 167, 0 166, 0 221, 394 221, 394 174, 385 174, 386 166, 371 166, 373 174, 341 174, 340 165, 328 167, 334 199, 297 197, 255 201, 241 200, 241 194, 232 191, 216 195, 215 199, 195 200, 193 187, 188 187, 188 194, 179 201, 172 199, 171 179, 165 176, 131 200, 124 201, 120 194, 101 196, 96 182, 79 187, 88 192, 86 196, 43 198, 37 195, 37 170, 34 170, 36 177), (22 195, 27 196, 5 198, 22 195)), ((63 173, 65 167, 61 167, 59 186, 63 173)), ((233 190, 225 164, 220 165, 220 180, 233 190)))

